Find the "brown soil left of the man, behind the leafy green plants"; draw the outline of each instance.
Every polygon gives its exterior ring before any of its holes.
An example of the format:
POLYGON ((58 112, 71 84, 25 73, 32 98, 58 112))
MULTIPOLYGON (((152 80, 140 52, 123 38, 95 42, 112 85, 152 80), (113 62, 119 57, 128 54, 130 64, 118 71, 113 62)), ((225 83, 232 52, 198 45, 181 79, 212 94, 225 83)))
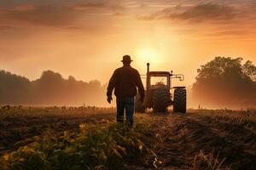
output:
POLYGON ((115 118, 113 109, 95 112, 87 109, 68 111, 52 108, 2 112, 5 115, 0 116, 0 155, 6 150, 15 150, 30 143, 33 136, 41 135, 47 130, 61 135, 64 131, 79 130, 80 123, 96 123, 104 119, 111 121, 115 118))

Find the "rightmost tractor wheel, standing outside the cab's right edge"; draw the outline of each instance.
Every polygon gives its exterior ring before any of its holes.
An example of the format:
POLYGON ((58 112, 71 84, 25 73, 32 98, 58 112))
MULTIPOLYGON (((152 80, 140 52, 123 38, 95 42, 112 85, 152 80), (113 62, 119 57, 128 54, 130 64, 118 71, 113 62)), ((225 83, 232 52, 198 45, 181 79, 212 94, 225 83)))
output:
POLYGON ((177 88, 174 90, 174 104, 173 112, 186 113, 187 108, 187 91, 184 88, 177 88))

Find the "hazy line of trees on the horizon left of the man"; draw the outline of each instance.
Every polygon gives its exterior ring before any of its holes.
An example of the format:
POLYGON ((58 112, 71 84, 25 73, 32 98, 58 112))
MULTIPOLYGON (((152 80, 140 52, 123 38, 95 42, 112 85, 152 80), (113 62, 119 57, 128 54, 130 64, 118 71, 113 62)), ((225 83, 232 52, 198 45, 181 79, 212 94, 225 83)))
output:
POLYGON ((106 85, 44 71, 35 81, 0 71, 1 105, 103 105, 106 85))

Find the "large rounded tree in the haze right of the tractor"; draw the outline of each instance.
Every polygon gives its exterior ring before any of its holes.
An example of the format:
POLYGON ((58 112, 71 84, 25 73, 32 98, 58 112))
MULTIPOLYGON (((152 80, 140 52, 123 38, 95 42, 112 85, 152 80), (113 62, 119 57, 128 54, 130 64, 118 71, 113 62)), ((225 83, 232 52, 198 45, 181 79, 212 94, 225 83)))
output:
POLYGON ((255 66, 241 58, 216 57, 197 70, 192 96, 205 106, 256 105, 255 66))

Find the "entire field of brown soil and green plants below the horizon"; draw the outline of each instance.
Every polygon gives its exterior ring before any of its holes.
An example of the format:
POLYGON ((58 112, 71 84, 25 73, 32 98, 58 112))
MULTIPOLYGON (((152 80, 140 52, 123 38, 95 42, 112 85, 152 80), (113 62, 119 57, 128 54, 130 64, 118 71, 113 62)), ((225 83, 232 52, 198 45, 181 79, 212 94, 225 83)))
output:
POLYGON ((256 169, 256 111, 0 110, 0 169, 256 169))

